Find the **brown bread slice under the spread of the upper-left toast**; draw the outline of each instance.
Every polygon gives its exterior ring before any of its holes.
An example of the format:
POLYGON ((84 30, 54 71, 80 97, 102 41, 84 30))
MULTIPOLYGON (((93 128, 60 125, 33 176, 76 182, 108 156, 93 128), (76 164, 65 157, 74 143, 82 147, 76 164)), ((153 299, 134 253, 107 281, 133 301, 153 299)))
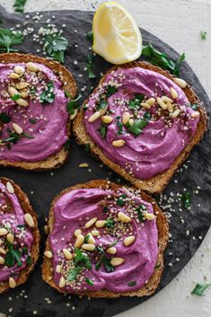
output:
MULTIPOLYGON (((69 92, 72 99, 75 99, 77 93, 77 86, 75 84, 75 79, 73 75, 67 70, 65 66, 62 66, 57 61, 46 59, 43 57, 34 56, 31 54, 19 54, 19 53, 4 53, 0 54, 0 63, 40 63, 42 65, 48 66, 55 74, 58 73, 63 76, 63 79, 59 79, 63 86, 62 89, 69 92)), ((71 123, 68 122, 66 125, 66 134, 70 137, 71 123)), ((66 162, 68 158, 69 150, 63 145, 60 151, 55 154, 51 154, 45 160, 39 162, 10 162, 8 160, 0 160, 0 166, 10 166, 14 168, 19 168, 23 170, 31 171, 45 171, 50 169, 55 169, 66 162)))

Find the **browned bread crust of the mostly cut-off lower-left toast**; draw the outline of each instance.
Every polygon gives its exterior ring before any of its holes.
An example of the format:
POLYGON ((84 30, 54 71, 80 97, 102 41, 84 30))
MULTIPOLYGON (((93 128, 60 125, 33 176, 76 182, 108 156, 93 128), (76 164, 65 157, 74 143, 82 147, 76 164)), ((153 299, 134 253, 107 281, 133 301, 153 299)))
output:
MULTIPOLYGON (((30 228, 31 234, 33 236, 33 242, 31 244, 31 264, 28 265, 26 268, 22 269, 20 272, 20 275, 16 281, 16 286, 20 286, 23 283, 26 282, 27 278, 29 277, 29 274, 34 269, 35 264, 39 258, 40 253, 40 231, 38 228, 38 220, 37 215, 33 208, 31 207, 31 203, 29 198, 26 196, 26 194, 22 191, 22 189, 14 182, 9 179, 0 178, 0 181, 6 186, 6 183, 9 181, 13 185, 14 194, 18 198, 18 201, 22 207, 22 211, 24 214, 30 214, 32 216, 34 226, 30 228)), ((9 211, 9 210, 8 210, 9 211)), ((6 211, 6 212, 8 212, 6 211)), ((27 225, 28 227, 28 225, 27 225)), ((0 294, 8 291, 10 289, 9 282, 4 281, 0 282, 0 294)))

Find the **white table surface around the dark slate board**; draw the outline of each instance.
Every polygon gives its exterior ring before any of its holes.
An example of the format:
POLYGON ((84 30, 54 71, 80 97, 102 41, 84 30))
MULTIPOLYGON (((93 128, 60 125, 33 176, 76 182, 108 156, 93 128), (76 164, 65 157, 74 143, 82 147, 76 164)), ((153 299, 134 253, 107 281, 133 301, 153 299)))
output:
MULTIPOLYGON (((84 9, 94 10, 99 0, 27 0, 27 11, 84 9), (36 5, 35 5, 36 4, 36 5)), ((151 31, 178 52, 186 53, 189 66, 211 98, 211 1, 210 0, 122 0, 139 26, 151 31), (201 40, 200 31, 207 31, 201 40)), ((13 0, 0 0, 13 12, 13 0)), ((204 278, 211 283, 211 229, 192 260, 159 294, 119 317, 210 317, 211 287, 206 295, 190 295, 204 278)), ((21 316, 20 316, 21 317, 21 316)))

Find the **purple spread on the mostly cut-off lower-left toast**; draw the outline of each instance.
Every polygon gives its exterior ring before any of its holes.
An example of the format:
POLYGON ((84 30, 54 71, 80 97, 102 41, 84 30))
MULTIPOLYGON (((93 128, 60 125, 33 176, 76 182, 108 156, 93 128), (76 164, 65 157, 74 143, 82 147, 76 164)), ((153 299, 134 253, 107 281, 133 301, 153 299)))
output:
POLYGON ((24 225, 24 213, 17 196, 9 193, 0 182, 0 283, 8 281, 9 277, 17 280, 19 273, 31 264, 31 244, 33 236, 30 229, 24 225), (11 233, 11 234, 10 234, 11 233), (7 240, 7 235, 13 235, 13 242, 7 240))

